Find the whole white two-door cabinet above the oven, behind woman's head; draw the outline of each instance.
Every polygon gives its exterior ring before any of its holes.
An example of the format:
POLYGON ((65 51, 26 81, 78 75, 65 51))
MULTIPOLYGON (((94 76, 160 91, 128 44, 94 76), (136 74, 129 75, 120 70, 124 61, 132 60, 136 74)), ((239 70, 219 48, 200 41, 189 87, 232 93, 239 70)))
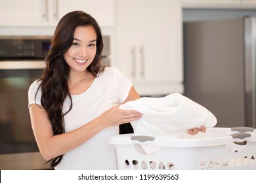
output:
POLYGON ((101 27, 114 25, 114 0, 0 0, 0 26, 55 26, 64 14, 83 10, 101 27))

